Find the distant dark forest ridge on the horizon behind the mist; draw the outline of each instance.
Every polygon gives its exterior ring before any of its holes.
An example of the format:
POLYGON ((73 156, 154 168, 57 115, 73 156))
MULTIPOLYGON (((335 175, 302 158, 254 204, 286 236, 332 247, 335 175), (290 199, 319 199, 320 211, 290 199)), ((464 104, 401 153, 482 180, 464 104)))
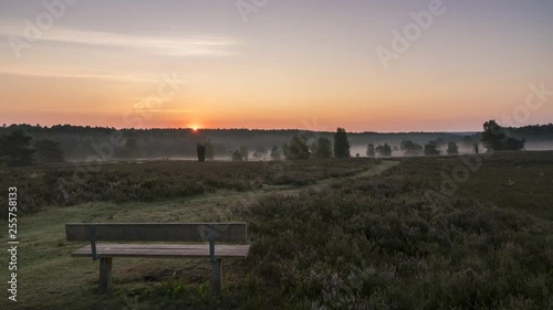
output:
MULTIPOLYGON (((250 153, 258 151, 265 153, 272 147, 279 149, 289 142, 295 133, 302 133, 309 140, 321 137, 333 139, 334 132, 317 132, 298 129, 115 129, 108 127, 55 125, 43 127, 40 125, 11 125, 0 127, 0 136, 9 135, 15 130, 22 130, 32 137, 33 141, 52 140, 60 143, 65 160, 84 160, 87 156, 95 154, 97 148, 105 147, 115 133, 125 141, 113 147, 113 159, 148 159, 148 158, 195 158, 197 156, 198 142, 209 143, 213 148, 215 158, 230 158, 232 152, 239 148, 248 148, 250 153)), ((508 128, 514 138, 524 138, 526 145, 533 142, 552 142, 553 124, 525 126, 521 128, 508 128)), ((459 142, 463 147, 468 137, 473 141, 480 141, 480 132, 347 132, 352 148, 365 149, 367 143, 388 143, 400 146, 403 140, 417 143, 426 143, 429 140, 442 140, 459 142)), ((469 143, 465 143, 470 147, 469 143)), ((111 151, 111 150, 109 150, 111 151)))

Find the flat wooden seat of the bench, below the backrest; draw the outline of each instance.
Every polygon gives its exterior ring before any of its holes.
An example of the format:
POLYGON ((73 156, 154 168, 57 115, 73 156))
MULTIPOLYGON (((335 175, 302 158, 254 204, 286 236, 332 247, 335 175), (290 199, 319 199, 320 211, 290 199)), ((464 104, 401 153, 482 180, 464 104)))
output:
MULTIPOLYGON (((247 258, 250 245, 216 245, 217 257, 247 258)), ((98 257, 209 257, 209 245, 165 244, 97 244, 98 257)), ((91 257, 91 246, 75 250, 71 256, 91 257)))

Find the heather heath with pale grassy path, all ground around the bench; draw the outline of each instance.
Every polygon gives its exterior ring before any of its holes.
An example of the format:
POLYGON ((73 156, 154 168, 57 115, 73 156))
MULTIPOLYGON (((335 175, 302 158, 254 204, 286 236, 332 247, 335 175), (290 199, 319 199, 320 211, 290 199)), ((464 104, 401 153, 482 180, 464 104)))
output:
POLYGON ((478 159, 461 177, 458 157, 109 164, 69 200, 53 180, 71 165, 2 170, 28 206, 19 301, 0 309, 552 309, 553 152, 478 159), (192 221, 250 225, 220 298, 207 259, 115 258, 100 295, 97 263, 70 256, 81 244, 63 226, 192 221))

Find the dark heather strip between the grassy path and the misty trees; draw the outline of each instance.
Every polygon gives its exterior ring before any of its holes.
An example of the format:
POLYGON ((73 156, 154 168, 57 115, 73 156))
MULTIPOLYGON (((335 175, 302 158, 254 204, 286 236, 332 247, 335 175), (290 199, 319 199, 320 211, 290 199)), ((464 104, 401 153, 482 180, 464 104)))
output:
MULTIPOLYGON (((255 162, 150 161, 103 165, 51 164, 1 168, 0 188, 18 185, 22 213, 77 203, 145 202, 194 196, 218 190, 254 191, 264 186, 303 186, 352 175, 367 167, 354 161, 255 162)), ((7 218, 7 210, 0 210, 7 218)))

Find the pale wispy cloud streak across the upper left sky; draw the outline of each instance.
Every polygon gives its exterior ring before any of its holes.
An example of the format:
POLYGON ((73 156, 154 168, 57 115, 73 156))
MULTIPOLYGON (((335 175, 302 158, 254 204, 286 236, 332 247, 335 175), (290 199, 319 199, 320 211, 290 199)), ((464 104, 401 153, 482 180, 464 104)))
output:
POLYGON ((170 26, 149 32, 58 25, 33 30, 29 23, 9 21, 0 21, 0 74, 132 83, 157 82, 159 72, 182 67, 188 58, 234 55, 238 43, 228 35, 170 26), (20 49, 21 58, 14 57, 10 42, 29 45, 20 49))

